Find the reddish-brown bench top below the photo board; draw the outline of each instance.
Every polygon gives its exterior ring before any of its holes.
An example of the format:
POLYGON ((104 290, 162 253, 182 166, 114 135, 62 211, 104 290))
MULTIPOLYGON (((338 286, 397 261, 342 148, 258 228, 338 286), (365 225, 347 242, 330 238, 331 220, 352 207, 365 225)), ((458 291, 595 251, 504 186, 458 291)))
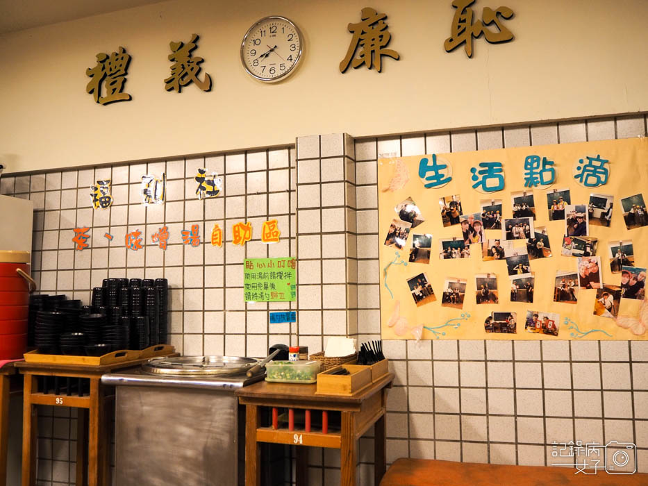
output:
POLYGON ((574 474, 567 467, 506 466, 400 458, 381 486, 646 486, 648 474, 574 474))

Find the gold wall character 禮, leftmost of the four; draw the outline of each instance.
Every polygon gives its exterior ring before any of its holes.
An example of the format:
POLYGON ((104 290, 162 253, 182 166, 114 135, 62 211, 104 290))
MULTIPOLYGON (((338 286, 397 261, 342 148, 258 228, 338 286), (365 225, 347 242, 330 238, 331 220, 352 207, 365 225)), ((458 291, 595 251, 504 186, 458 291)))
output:
POLYGON ((92 94, 94 101, 101 105, 130 100, 130 94, 122 93, 130 62, 131 56, 126 53, 126 49, 123 47, 119 47, 119 52, 113 52, 110 56, 105 52, 98 53, 97 65, 85 69, 85 74, 91 78, 85 87, 85 92, 92 94), (106 88, 105 97, 101 97, 102 83, 106 88))

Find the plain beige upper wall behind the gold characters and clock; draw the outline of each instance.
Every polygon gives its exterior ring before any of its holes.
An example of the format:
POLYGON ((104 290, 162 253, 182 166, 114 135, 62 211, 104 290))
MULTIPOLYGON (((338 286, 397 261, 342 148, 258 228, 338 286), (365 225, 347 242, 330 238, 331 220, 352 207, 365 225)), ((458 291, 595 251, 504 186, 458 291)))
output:
MULTIPOLYGON (((468 60, 445 53, 450 0, 386 1, 390 47, 382 74, 340 74, 366 2, 169 1, 0 36, 0 163, 8 171, 169 158, 293 143, 313 133, 356 137, 648 110, 648 2, 506 0, 514 42, 480 39, 468 60), (263 85, 244 73, 251 24, 285 15, 306 37, 292 78, 263 85), (213 92, 165 92, 170 40, 201 35, 195 55, 213 92), (99 106, 85 68, 119 45, 133 56, 133 101, 99 106)), ((499 0, 477 0, 485 6, 499 0)))

